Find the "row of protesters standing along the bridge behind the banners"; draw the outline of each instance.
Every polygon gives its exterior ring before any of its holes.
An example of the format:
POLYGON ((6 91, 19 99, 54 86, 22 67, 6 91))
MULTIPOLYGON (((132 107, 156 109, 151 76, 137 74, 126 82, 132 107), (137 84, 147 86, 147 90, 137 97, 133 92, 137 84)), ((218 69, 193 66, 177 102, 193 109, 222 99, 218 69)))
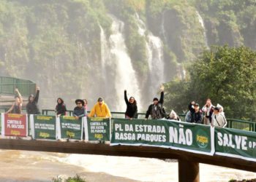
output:
MULTIPOLYGON (((163 107, 164 104, 164 86, 160 87, 160 99, 154 98, 153 103, 148 106, 146 111, 145 119, 148 119, 151 116, 151 119, 173 119, 180 121, 175 111, 171 111, 170 114, 165 112, 163 107)), ((21 108, 23 105, 23 98, 20 95, 18 89, 15 89, 15 103, 12 104, 11 108, 7 113, 21 114, 21 108)), ((39 100, 39 87, 37 87, 36 95, 29 95, 28 103, 26 105, 27 114, 40 114, 39 108, 37 106, 39 100)), ((138 118, 138 106, 137 101, 134 97, 127 98, 127 90, 124 90, 124 101, 127 105, 125 111, 125 118, 127 119, 137 119, 138 118)), ((88 117, 111 117, 110 109, 108 105, 104 102, 103 98, 98 98, 97 103, 91 108, 89 114, 88 103, 86 99, 77 99, 75 100, 75 108, 73 110, 73 116, 75 119, 80 119, 83 116, 88 117)), ((211 99, 206 100, 206 104, 200 109, 198 103, 192 101, 189 103, 188 112, 185 117, 185 122, 197 123, 197 124, 206 124, 212 127, 225 127, 227 120, 225 119, 225 114, 223 107, 217 104, 213 106, 211 99)), ((55 108, 56 116, 65 116, 67 114, 67 107, 62 98, 57 99, 57 105, 55 108)))

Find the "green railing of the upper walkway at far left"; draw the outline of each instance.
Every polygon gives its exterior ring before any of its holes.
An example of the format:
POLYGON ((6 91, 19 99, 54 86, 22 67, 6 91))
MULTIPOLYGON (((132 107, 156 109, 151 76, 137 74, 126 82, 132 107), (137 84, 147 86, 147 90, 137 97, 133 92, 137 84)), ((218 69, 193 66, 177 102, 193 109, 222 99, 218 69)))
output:
POLYGON ((36 84, 30 80, 0 76, 0 95, 15 95, 16 88, 24 96, 29 96, 36 92, 36 84))

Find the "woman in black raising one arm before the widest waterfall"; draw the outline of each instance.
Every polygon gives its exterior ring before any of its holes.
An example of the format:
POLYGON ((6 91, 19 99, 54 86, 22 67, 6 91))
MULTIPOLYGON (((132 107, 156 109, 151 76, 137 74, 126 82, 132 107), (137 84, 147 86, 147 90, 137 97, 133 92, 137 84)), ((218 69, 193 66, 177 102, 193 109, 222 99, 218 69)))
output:
POLYGON ((138 118, 137 101, 134 97, 127 98, 127 90, 124 90, 124 100, 127 103, 127 111, 125 111, 125 118, 133 119, 138 118))

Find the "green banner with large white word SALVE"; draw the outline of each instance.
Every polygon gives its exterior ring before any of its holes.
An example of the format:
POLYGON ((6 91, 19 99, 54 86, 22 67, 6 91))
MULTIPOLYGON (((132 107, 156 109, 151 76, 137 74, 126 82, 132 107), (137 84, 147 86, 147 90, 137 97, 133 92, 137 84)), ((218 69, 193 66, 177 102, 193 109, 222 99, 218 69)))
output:
POLYGON ((256 161, 256 132, 215 127, 218 155, 256 161))

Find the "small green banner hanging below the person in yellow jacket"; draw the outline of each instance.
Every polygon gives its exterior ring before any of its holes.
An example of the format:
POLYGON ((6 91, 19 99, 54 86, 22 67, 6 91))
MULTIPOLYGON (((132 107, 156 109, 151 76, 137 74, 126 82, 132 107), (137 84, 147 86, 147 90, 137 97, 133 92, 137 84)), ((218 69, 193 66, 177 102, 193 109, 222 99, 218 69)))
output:
POLYGON ((110 119, 91 117, 85 124, 87 141, 110 141, 110 119))

